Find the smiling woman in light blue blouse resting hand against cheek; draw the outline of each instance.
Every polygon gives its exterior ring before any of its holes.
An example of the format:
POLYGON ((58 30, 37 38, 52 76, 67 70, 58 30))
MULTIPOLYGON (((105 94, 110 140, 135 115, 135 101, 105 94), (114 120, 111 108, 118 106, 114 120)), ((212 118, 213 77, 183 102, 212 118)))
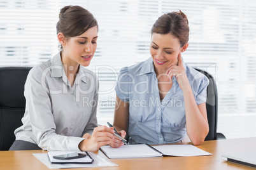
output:
POLYGON ((129 143, 203 143, 208 134, 206 76, 185 64, 187 16, 166 13, 152 27, 148 60, 124 67, 115 88, 113 125, 129 143))

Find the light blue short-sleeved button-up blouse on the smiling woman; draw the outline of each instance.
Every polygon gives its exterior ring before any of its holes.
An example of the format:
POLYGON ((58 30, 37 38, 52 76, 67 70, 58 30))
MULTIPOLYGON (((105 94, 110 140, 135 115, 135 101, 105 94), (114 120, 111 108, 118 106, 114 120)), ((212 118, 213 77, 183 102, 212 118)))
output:
MULTIPOLYGON (((183 62, 197 105, 206 102, 208 78, 183 62)), ((176 77, 162 101, 153 60, 124 67, 118 75, 115 91, 129 102, 129 143, 176 143, 185 138, 186 119, 183 91, 176 77)))

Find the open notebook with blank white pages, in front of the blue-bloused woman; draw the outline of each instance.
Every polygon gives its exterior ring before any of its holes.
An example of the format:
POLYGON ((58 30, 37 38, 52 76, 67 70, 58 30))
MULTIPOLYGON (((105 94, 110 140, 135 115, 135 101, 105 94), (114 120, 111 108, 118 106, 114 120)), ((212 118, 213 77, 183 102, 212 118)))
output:
POLYGON ((101 151, 110 159, 118 158, 141 158, 141 157, 162 157, 170 156, 199 156, 211 155, 193 145, 159 145, 150 146, 147 144, 123 145, 120 148, 110 146, 101 147, 101 151))

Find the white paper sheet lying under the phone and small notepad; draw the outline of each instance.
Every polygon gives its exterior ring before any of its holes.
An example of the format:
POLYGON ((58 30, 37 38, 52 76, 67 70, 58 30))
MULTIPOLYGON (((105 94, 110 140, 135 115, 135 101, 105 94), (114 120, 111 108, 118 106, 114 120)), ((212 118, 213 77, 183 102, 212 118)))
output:
POLYGON ((107 167, 107 166, 118 166, 117 164, 114 164, 113 162, 110 162, 110 160, 104 159, 103 157, 100 157, 97 154, 94 154, 93 152, 88 152, 90 157, 94 159, 94 162, 92 164, 52 164, 50 162, 50 159, 48 157, 48 154, 33 154, 34 157, 36 157, 38 160, 40 160, 45 166, 47 166, 49 169, 61 169, 61 168, 75 168, 75 167, 107 167))

